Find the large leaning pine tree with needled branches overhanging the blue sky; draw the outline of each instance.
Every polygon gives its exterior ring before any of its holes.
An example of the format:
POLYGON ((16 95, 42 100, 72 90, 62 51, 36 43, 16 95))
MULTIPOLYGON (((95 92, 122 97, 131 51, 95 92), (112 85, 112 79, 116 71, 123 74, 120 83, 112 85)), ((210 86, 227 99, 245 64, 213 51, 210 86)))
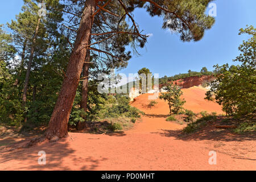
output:
MULTIPOLYGON (((68 2, 70 3, 70 1, 68 2)), ((131 15, 132 11, 136 7, 146 8, 151 16, 162 16, 164 21, 163 28, 170 28, 171 31, 178 32, 180 34, 181 40, 198 41, 203 38, 204 31, 212 27, 214 23, 214 18, 204 14, 209 2, 210 0, 72 1, 72 3, 76 3, 77 5, 84 5, 84 8, 82 9, 82 15, 80 16, 81 18, 78 21, 80 27, 77 30, 73 51, 69 59, 69 64, 65 73, 65 78, 59 94, 59 98, 56 102, 55 109, 53 110, 52 117, 49 122, 46 137, 48 139, 57 140, 61 137, 67 136, 68 134, 68 119, 72 109, 73 101, 76 96, 76 89, 79 85, 80 75, 84 65, 87 49, 101 52, 104 53, 106 57, 111 57, 113 61, 110 61, 110 64, 106 65, 113 66, 115 64, 125 64, 122 59, 126 59, 127 56, 129 57, 129 55, 123 54, 123 49, 116 51, 115 45, 123 42, 123 45, 125 46, 126 42, 130 42, 128 39, 132 38, 132 40, 138 40, 140 43, 139 46, 144 46, 146 43, 146 37, 141 34, 138 24, 135 23, 133 16, 131 15), (132 26, 127 28, 128 30, 125 32, 119 31, 119 27, 117 26, 114 27, 116 28, 116 31, 95 34, 93 32, 93 27, 94 23, 97 24, 98 22, 97 19, 94 21, 94 17, 96 14, 102 14, 102 12, 112 15, 111 18, 108 19, 106 19, 104 15, 104 18, 102 18, 103 21, 110 22, 110 25, 112 19, 119 18, 119 20, 122 20, 129 18, 132 22, 132 26), (121 34, 125 34, 126 36, 119 36, 121 34), (105 43, 105 47, 89 47, 92 46, 91 44, 93 43, 91 36, 99 36, 98 39, 94 38, 96 40, 94 45, 97 43, 105 43), (120 38, 126 39, 120 40, 120 38), (115 54, 111 53, 111 51, 115 52, 115 54)), ((77 13, 73 13, 73 15, 79 16, 77 13)), ((116 22, 116 20, 114 20, 114 22, 116 22)), ((108 27, 108 25, 109 23, 106 23, 105 26, 99 26, 99 28, 108 27)), ((107 30, 109 29, 107 28, 107 30)), ((104 29, 102 29, 102 31, 104 31, 104 29)))

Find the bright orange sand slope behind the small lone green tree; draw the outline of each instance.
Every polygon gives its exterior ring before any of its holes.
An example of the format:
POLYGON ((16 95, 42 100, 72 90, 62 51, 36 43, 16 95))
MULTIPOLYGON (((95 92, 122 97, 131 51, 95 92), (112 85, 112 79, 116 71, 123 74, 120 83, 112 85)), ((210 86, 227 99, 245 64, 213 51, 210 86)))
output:
MULTIPOLYGON (((195 113, 200 113, 201 111, 208 111, 208 113, 216 112, 217 114, 223 114, 221 106, 216 102, 205 100, 205 93, 207 89, 202 87, 193 86, 188 89, 181 89, 183 96, 181 98, 185 99, 184 108, 192 110, 195 113)), ((151 109, 147 106, 151 100, 148 100, 148 96, 153 94, 142 94, 141 96, 135 98, 135 101, 131 106, 137 107, 138 109, 144 111, 146 114, 164 114, 170 113, 169 106, 167 102, 156 99, 158 104, 151 109)))

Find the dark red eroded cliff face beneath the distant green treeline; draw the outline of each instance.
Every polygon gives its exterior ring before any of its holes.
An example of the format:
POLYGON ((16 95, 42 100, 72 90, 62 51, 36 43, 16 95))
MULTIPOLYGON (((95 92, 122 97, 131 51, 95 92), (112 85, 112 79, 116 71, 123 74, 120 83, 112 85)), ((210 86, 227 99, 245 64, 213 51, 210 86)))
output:
POLYGON ((180 80, 174 81, 175 85, 180 86, 180 88, 191 88, 192 86, 207 86, 207 82, 211 82, 216 78, 212 75, 203 75, 201 77, 191 76, 187 78, 183 78, 180 80))

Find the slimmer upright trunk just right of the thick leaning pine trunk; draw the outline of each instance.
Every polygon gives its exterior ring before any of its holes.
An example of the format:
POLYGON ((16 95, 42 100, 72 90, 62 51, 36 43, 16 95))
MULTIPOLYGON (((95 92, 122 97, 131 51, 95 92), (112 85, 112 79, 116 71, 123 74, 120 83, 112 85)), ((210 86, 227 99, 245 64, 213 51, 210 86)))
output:
MULTIPOLYGON (((87 98, 88 98, 88 88, 89 88, 89 62, 90 62, 90 49, 86 52, 86 58, 85 61, 87 63, 84 63, 84 73, 83 76, 84 81, 82 81, 82 100, 81 100, 81 108, 86 112, 87 111, 87 98)), ((84 115, 84 121, 86 121, 86 115, 84 115)), ((86 126, 85 122, 79 122, 77 123, 77 130, 82 130, 86 126)))

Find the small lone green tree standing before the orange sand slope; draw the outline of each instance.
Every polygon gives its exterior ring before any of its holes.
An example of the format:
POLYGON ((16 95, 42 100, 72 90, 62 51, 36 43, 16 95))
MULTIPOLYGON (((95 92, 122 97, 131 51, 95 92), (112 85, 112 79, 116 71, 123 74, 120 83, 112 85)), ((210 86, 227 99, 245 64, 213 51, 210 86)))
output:
POLYGON ((181 89, 179 88, 179 86, 173 85, 172 83, 168 84, 165 89, 167 90, 167 92, 162 93, 159 98, 168 102, 170 114, 179 113, 179 111, 183 109, 183 105, 185 104, 185 100, 180 98, 180 96, 183 94, 181 92, 181 89))

